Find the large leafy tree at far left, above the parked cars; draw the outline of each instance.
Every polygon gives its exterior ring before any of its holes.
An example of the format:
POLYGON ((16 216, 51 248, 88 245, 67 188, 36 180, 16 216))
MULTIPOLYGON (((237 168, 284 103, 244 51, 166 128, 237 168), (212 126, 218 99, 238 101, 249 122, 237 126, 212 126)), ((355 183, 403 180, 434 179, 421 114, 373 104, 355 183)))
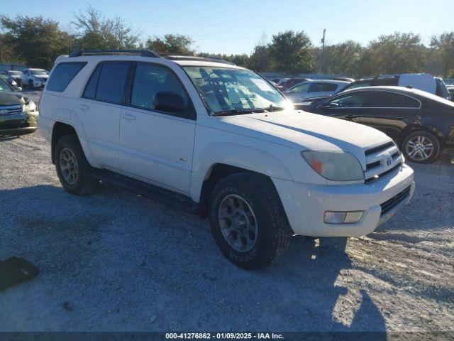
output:
POLYGON ((58 55, 69 52, 70 36, 60 31, 57 21, 42 16, 0 16, 0 25, 6 31, 2 38, 6 45, 28 66, 50 69, 58 55))

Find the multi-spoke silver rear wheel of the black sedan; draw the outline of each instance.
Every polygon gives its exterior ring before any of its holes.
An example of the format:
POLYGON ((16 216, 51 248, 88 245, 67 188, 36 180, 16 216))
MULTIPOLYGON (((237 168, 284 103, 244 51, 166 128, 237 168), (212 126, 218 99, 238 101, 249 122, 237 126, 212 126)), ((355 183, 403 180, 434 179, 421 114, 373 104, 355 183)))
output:
POLYGON ((414 163, 431 163, 440 154, 440 142, 426 131, 415 131, 404 139, 402 150, 405 157, 414 163))

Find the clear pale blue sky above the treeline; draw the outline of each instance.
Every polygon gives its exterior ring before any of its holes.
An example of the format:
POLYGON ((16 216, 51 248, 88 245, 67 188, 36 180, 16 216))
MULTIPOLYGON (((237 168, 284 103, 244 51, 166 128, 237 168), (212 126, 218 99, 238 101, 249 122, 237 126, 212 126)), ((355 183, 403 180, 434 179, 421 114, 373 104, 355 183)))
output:
POLYGON ((453 31, 453 0, 0 0, 8 16, 43 15, 69 28, 74 12, 92 4, 105 16, 121 16, 148 36, 180 33, 191 36, 198 51, 250 53, 262 36, 287 29, 304 30, 320 45, 353 39, 362 44, 395 31, 419 33, 423 43, 453 31))

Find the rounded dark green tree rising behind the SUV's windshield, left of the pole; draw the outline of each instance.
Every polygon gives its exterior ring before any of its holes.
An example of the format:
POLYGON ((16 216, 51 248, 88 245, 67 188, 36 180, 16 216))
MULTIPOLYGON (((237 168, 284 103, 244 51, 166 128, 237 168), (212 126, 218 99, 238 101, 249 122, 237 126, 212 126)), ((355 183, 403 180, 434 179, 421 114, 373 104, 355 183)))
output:
POLYGON ((268 47, 272 67, 289 74, 311 72, 311 48, 311 40, 303 31, 278 33, 272 36, 272 43, 268 47))

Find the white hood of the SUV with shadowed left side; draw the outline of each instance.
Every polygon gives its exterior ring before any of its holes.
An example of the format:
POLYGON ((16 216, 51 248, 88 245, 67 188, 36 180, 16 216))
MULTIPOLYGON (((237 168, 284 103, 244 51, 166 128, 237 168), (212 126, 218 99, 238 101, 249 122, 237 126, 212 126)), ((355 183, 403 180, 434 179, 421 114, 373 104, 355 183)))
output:
MULTIPOLYGON (((237 134, 292 146, 301 151, 347 151, 360 160, 365 158, 365 149, 392 141, 381 131, 362 124, 296 110, 220 119, 237 134)), ((227 126, 223 129, 227 130, 227 126)))

